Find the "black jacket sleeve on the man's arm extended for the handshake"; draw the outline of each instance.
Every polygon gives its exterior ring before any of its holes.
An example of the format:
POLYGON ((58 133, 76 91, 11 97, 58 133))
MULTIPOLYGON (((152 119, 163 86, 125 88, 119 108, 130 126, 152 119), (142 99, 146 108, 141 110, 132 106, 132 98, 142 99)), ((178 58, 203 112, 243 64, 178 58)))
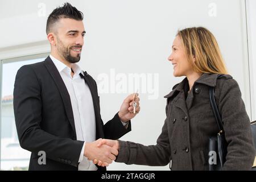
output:
POLYGON ((42 121, 41 87, 34 70, 28 65, 19 69, 14 84, 14 115, 20 146, 46 158, 78 166, 84 142, 57 137, 40 128, 42 121))

